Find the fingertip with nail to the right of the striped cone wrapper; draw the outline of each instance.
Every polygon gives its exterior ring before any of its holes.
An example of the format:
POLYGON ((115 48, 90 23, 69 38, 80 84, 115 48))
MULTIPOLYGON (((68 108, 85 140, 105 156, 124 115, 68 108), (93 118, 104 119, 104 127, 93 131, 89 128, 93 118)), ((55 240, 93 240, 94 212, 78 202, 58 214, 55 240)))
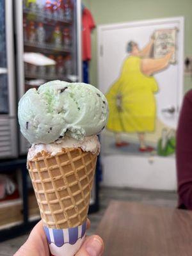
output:
POLYGON ((99 236, 86 237, 76 256, 101 256, 104 251, 104 243, 99 236))

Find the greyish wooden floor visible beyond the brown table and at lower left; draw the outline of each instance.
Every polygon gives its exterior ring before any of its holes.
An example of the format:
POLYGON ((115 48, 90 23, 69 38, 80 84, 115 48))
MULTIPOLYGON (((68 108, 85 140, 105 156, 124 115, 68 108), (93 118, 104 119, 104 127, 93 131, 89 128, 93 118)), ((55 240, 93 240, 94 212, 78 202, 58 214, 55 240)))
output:
MULTIPOLYGON (((88 235, 94 234, 110 200, 135 201, 143 204, 162 205, 167 207, 177 206, 177 194, 175 192, 101 188, 100 211, 90 214, 89 218, 92 222, 92 227, 88 230, 88 235)), ((0 243, 0 256, 12 256, 20 245, 26 241, 27 237, 28 234, 0 243)))

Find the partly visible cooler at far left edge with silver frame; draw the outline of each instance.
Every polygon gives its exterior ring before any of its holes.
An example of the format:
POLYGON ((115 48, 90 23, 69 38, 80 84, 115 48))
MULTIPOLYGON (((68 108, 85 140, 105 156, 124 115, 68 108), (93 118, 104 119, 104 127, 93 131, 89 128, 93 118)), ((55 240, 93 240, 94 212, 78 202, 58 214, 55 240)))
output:
POLYGON ((17 157, 12 7, 0 0, 0 159, 17 157))

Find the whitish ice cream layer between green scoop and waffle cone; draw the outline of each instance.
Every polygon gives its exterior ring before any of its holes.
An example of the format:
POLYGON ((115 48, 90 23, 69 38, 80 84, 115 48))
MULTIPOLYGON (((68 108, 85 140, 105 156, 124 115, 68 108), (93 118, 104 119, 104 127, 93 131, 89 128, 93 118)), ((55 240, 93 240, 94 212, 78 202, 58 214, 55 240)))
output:
POLYGON ((65 136, 63 139, 49 144, 33 144, 28 151, 28 161, 33 159, 36 154, 45 151, 55 156, 61 152, 62 148, 81 148, 85 152, 92 152, 92 154, 100 151, 100 143, 97 135, 85 136, 83 140, 76 140, 71 137, 65 136))

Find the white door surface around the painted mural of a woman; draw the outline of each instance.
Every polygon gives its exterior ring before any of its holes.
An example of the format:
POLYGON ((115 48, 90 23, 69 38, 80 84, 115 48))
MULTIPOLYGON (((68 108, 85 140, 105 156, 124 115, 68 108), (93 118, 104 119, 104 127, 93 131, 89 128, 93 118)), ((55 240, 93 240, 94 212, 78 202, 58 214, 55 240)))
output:
MULTIPOLYGON (((183 88, 183 33, 184 19, 145 20, 124 24, 99 26, 98 28, 98 68, 99 88, 108 92, 111 84, 120 76, 122 63, 127 56, 127 42, 138 43, 145 47, 150 36, 159 29, 177 28, 177 63, 163 72, 154 75, 159 92, 156 98, 156 131, 146 134, 154 148, 161 138, 163 129, 177 128, 179 108, 182 102, 183 88)), ((122 134, 137 150, 136 134, 122 134)), ((104 165, 104 184, 109 186, 129 186, 132 188, 175 189, 176 170, 174 154, 162 157, 156 154, 141 154, 130 151, 131 147, 115 148, 113 132, 105 131, 102 136, 102 163, 104 165)))

